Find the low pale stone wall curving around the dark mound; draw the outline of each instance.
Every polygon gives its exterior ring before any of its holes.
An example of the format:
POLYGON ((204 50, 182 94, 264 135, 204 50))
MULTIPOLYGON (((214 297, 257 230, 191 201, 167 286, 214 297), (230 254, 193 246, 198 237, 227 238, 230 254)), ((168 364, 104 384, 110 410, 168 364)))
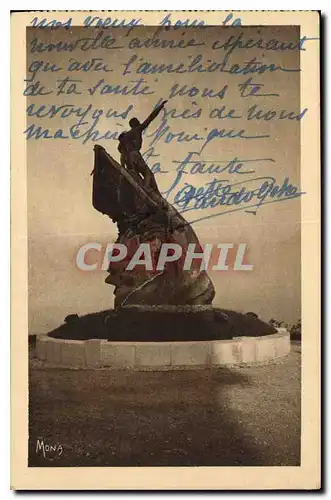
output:
POLYGON ((284 328, 260 337, 186 342, 64 340, 39 335, 36 357, 71 368, 177 370, 264 362, 286 356, 290 347, 290 335, 284 328))

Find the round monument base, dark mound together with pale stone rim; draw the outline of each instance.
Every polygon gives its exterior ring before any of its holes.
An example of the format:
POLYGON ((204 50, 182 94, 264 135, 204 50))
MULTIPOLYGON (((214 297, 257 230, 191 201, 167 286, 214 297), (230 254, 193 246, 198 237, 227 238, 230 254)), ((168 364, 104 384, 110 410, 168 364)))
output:
POLYGON ((176 370, 259 363, 290 351, 286 329, 212 306, 128 306, 36 338, 36 357, 71 368, 176 370))

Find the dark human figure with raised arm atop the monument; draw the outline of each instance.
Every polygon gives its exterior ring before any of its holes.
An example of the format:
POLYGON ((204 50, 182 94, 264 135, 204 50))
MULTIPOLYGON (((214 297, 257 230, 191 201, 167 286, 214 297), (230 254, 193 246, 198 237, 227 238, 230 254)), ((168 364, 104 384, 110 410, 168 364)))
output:
POLYGON ((158 191, 158 187, 154 174, 151 172, 140 153, 143 142, 142 133, 158 116, 166 102, 167 101, 162 101, 162 103, 157 106, 142 123, 140 123, 138 118, 131 118, 129 121, 131 129, 128 132, 122 132, 118 138, 118 151, 121 153, 122 167, 126 167, 127 170, 131 171, 131 173, 134 174, 134 177, 136 177, 135 174, 142 176, 145 188, 151 188, 155 191, 158 191))

